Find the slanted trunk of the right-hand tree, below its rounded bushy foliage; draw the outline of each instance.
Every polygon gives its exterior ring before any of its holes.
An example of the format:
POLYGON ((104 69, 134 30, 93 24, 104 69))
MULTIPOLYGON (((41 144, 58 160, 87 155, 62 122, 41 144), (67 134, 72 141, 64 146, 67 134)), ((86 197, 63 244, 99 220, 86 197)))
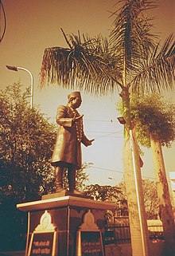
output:
POLYGON ((161 150, 161 142, 150 134, 153 152, 154 171, 157 180, 157 195, 159 201, 159 215, 163 224, 165 238, 165 255, 175 255, 175 223, 173 207, 169 195, 169 185, 166 178, 165 163, 161 150))

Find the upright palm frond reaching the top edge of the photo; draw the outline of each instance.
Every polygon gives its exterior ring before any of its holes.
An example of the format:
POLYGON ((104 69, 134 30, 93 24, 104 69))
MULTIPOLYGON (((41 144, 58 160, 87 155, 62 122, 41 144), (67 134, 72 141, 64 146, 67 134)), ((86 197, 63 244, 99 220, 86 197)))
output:
MULTIPOLYGON (((153 1, 126 0, 115 12, 114 29, 111 30, 110 44, 120 49, 126 71, 133 72, 140 59, 145 58, 154 48, 155 35, 150 33, 152 19, 144 16, 145 11, 156 7, 153 1)), ((123 65, 124 66, 124 65, 123 65)))

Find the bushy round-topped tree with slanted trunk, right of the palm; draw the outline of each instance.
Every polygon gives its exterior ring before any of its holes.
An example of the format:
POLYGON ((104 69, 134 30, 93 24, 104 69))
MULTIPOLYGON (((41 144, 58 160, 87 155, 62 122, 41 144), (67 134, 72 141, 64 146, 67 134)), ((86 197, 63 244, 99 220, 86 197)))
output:
POLYGON ((169 251, 174 242, 175 223, 171 187, 165 170, 161 146, 170 147, 175 140, 175 104, 164 100, 159 94, 133 97, 130 103, 138 140, 151 147, 157 180, 159 215, 163 223, 165 244, 169 251))

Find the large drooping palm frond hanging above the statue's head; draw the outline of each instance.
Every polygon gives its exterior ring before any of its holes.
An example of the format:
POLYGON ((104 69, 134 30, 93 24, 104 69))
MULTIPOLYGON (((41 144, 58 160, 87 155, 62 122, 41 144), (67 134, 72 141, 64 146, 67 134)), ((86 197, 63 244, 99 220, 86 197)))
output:
MULTIPOLYGON (((64 31, 63 31, 64 33, 64 31)), ((58 83, 64 88, 79 86, 87 92, 104 94, 120 85, 120 60, 109 48, 106 38, 80 37, 64 33, 68 49, 45 49, 41 65, 41 87, 58 83)))

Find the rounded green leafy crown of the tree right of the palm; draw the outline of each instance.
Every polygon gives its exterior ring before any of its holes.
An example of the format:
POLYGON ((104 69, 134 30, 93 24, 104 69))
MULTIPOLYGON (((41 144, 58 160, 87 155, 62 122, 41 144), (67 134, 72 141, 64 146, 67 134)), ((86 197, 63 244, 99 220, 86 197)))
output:
POLYGON ((175 104, 157 93, 132 97, 130 111, 137 128, 138 142, 150 147, 150 133, 162 146, 169 147, 175 140, 175 104))

